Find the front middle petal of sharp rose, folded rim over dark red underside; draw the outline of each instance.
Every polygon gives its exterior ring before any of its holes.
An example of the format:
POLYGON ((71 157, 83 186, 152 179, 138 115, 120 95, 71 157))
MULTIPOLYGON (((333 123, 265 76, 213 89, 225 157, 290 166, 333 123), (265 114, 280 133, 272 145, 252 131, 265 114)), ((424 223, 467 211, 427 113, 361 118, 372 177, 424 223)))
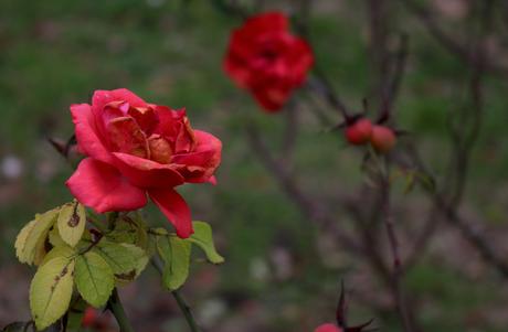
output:
POLYGON ((121 174, 139 188, 173 188, 183 183, 183 178, 170 164, 120 152, 113 154, 121 174))

